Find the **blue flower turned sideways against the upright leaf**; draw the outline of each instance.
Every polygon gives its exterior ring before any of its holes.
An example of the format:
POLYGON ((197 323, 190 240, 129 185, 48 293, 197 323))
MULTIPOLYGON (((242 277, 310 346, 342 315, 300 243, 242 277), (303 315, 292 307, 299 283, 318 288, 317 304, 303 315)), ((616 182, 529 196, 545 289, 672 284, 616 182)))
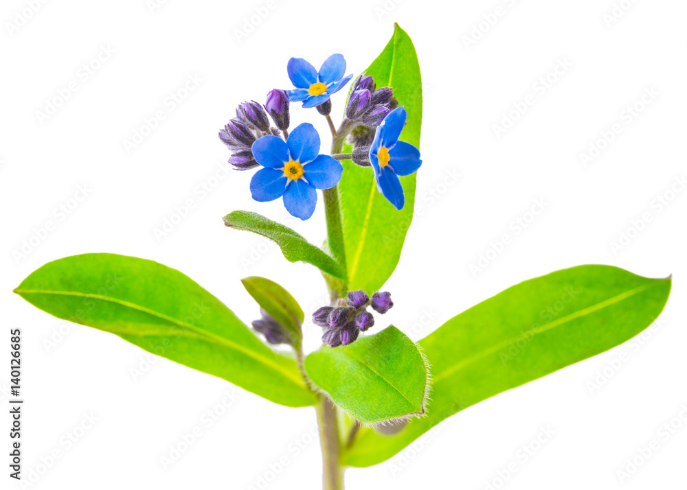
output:
POLYGON ((377 189, 396 209, 403 209, 405 205, 403 186, 398 176, 414 174, 423 164, 420 150, 410 143, 398 141, 406 117, 403 106, 392 110, 377 126, 370 146, 370 162, 377 189))

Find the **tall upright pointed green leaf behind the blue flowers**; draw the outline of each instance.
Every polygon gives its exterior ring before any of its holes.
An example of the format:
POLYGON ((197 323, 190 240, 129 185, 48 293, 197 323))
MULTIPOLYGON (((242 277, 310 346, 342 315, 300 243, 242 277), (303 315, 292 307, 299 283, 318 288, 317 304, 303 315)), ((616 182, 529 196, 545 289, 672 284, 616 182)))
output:
MULTIPOLYGON (((372 65, 365 70, 378 87, 390 86, 398 104, 405 106, 407 124, 401 141, 419 148, 423 119, 423 87, 415 47, 401 27, 372 65)), ((350 147, 345 150, 350 151, 350 147)), ((422 170, 420 169, 420 172, 422 170)), ((377 191, 371 168, 343 162, 339 183, 348 288, 367 292, 379 290, 389 279, 401 257, 405 235, 413 219, 416 175, 401 177, 405 207, 401 211, 377 191)))

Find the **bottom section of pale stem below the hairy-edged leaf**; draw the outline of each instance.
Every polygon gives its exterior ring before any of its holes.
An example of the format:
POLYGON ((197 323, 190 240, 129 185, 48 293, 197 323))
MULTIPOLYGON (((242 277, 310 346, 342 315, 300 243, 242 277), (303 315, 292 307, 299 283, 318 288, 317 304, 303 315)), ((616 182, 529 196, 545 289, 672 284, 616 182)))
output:
POLYGON ((324 395, 320 395, 317 406, 319 442, 322 445, 322 488, 343 490, 343 467, 341 467, 341 443, 336 407, 324 395))

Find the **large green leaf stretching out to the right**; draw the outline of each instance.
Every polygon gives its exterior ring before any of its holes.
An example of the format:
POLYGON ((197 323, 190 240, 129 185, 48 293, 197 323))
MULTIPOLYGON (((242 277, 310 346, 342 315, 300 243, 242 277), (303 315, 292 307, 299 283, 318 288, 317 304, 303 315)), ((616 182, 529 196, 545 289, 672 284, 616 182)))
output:
POLYGON ((653 323, 670 290, 670 278, 578 266, 471 307, 420 341, 432 366, 427 417, 393 437, 361 429, 343 462, 380 463, 455 412, 622 344, 653 323))

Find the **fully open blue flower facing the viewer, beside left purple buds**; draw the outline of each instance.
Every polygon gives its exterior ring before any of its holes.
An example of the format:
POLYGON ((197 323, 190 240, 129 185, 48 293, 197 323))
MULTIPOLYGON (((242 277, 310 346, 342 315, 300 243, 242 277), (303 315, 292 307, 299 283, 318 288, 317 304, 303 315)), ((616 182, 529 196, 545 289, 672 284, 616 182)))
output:
POLYGON ((315 189, 329 189, 341 180, 341 163, 318 154, 319 135, 309 123, 297 126, 286 141, 263 136, 253 143, 251 151, 264 167, 251 179, 253 198, 266 202, 284 196, 286 211, 302 220, 315 212, 315 189))

